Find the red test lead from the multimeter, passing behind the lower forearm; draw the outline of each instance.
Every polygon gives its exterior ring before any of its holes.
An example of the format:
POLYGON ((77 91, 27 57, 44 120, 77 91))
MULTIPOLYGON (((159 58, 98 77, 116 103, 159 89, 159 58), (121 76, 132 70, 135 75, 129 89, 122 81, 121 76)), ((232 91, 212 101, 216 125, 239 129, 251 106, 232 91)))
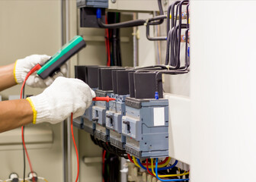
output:
MULTIPOLYGON (((23 84, 22 84, 22 86, 21 86, 21 99, 22 99, 23 88, 24 88, 24 86, 25 86, 25 83, 26 83, 26 81, 27 81, 27 78, 28 78, 31 74, 33 74, 35 71, 38 71, 40 68, 41 68, 41 65, 40 65, 40 64, 37 64, 36 66, 34 66, 34 67, 30 70, 30 72, 27 73, 27 76, 25 77, 24 82, 23 82, 23 84)), ((25 150, 26 155, 27 155, 27 162, 28 162, 28 164, 30 165, 30 172, 32 173, 32 172, 33 172, 33 169, 32 169, 32 165, 31 165, 31 162, 30 162, 30 157, 29 157, 28 152, 27 152, 26 143, 25 143, 25 140, 24 140, 24 127, 23 127, 23 126, 21 127, 21 138, 22 138, 22 144, 23 144, 23 146, 24 146, 24 150, 25 150)), ((33 181, 33 182, 35 181, 34 177, 32 177, 32 181, 33 181)))

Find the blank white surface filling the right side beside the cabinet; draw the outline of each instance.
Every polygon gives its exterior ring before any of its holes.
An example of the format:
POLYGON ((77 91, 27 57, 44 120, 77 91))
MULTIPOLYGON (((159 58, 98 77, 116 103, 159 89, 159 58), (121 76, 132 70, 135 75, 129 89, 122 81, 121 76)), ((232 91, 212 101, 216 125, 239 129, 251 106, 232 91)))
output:
POLYGON ((256 2, 190 5, 191 181, 254 181, 256 2))

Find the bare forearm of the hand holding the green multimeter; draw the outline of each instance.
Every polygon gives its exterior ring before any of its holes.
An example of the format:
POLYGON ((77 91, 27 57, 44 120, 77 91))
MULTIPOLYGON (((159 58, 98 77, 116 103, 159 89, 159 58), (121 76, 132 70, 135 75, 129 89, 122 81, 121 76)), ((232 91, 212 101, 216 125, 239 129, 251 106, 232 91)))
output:
POLYGON ((0 91, 16 85, 14 79, 14 64, 0 67, 0 91))

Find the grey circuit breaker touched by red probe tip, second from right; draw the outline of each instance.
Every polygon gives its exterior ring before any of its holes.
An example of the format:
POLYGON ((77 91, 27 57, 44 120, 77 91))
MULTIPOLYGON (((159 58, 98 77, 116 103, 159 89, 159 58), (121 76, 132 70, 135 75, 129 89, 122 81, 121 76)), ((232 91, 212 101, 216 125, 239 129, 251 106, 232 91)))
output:
POLYGON ((110 143, 118 149, 124 149, 126 143, 126 137, 122 134, 122 116, 126 112, 125 99, 127 96, 111 94, 116 101, 109 103, 109 110, 106 112, 106 127, 110 130, 110 143))

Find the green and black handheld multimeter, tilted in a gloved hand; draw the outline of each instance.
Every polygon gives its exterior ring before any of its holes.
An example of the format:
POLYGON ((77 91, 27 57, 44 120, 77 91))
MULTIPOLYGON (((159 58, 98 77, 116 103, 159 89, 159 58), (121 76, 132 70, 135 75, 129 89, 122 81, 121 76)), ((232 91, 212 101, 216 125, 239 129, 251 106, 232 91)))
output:
POLYGON ((66 45, 63 45, 59 52, 53 55, 46 64, 37 71, 37 74, 42 78, 52 76, 59 68, 81 49, 85 48, 86 43, 82 36, 75 36, 66 45))

